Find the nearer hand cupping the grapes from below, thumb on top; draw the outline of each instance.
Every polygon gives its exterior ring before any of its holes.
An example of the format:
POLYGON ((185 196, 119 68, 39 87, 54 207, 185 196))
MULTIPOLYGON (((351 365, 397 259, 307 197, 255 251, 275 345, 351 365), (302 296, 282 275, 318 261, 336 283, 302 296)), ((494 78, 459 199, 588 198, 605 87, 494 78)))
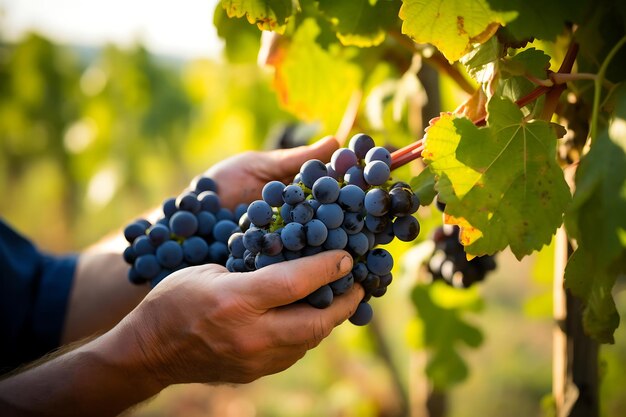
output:
POLYGON ((337 250, 247 273, 186 268, 157 285, 125 327, 163 387, 251 382, 290 367, 354 313, 358 284, 323 310, 294 304, 351 269, 352 258, 337 250))

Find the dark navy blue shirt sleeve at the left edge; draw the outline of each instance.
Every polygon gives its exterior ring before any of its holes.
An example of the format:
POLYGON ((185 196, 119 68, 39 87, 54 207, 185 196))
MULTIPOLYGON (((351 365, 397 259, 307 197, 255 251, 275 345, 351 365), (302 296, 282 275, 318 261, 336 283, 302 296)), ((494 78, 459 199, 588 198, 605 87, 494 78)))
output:
POLYGON ((0 373, 59 346, 76 262, 39 252, 0 219, 0 373))

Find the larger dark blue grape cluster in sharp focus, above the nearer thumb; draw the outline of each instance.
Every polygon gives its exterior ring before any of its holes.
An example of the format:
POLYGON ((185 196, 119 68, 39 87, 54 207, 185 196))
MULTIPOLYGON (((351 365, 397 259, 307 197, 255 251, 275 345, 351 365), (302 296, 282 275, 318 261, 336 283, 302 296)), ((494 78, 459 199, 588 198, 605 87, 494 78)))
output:
POLYGON ((344 249, 354 259, 350 273, 325 285, 306 302, 328 307, 333 297, 357 282, 365 297, 350 321, 365 325, 372 318, 370 297, 380 297, 392 281, 391 254, 376 245, 394 237, 412 241, 420 231, 412 216, 419 200, 406 183, 390 181, 391 155, 365 134, 351 138, 327 164, 305 162, 293 183, 267 183, 262 199, 252 202, 229 241, 226 267, 246 272, 265 266, 344 249))

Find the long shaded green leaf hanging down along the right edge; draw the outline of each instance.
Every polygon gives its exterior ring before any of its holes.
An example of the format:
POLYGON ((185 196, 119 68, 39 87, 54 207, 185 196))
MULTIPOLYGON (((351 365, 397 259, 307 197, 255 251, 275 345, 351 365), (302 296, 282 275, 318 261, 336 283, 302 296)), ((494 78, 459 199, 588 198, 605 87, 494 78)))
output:
POLYGON ((585 330, 613 342, 619 315, 611 296, 626 272, 626 89, 617 94, 616 117, 594 141, 576 173, 576 192, 565 224, 578 243, 565 284, 586 303, 585 330))

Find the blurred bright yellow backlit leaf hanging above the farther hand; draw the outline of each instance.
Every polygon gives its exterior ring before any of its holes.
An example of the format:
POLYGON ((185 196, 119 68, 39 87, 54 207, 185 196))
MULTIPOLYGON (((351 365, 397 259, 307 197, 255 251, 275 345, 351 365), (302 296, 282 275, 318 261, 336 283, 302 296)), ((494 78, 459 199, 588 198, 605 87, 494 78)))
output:
POLYGON ((316 42, 319 33, 315 20, 307 18, 291 42, 281 46, 273 62, 275 88, 287 110, 303 120, 321 121, 333 131, 360 86, 362 72, 340 48, 324 50, 316 42))

